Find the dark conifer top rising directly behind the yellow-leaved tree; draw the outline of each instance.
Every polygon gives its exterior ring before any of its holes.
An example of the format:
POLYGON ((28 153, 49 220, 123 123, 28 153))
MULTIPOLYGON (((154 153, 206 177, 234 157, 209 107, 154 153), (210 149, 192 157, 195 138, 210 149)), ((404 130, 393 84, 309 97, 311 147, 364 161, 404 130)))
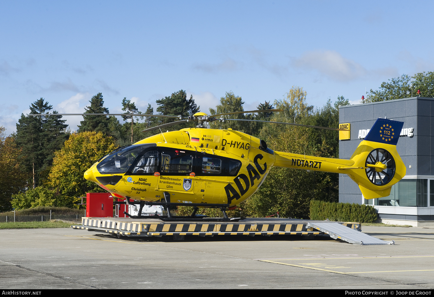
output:
POLYGON ((78 132, 95 131, 110 135, 110 117, 109 109, 104 107, 102 93, 98 93, 90 99, 90 106, 86 106, 85 114, 107 114, 105 115, 83 115, 83 121, 80 121, 78 132))

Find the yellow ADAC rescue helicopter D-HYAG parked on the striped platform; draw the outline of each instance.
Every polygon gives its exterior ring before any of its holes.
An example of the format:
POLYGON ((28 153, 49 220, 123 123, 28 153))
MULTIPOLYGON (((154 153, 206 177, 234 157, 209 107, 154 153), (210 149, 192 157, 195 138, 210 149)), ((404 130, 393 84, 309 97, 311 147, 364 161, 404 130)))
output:
POLYGON ((210 121, 256 121, 223 116, 273 111, 282 110, 179 116, 179 121, 144 130, 160 129, 161 133, 115 150, 93 164, 84 177, 127 203, 132 203, 130 199, 141 201, 139 214, 146 203, 164 206, 168 215, 163 220, 201 219, 195 215, 197 207, 218 207, 224 214, 222 220, 230 220, 225 210, 252 196, 272 166, 347 174, 358 184, 365 199, 388 196, 391 186, 405 175, 405 165, 396 150, 398 132, 404 124, 399 121, 378 118, 350 160, 273 151, 264 140, 249 134, 230 128, 209 129, 204 125, 210 121), (197 127, 161 131, 191 120, 198 121, 197 127), (194 206, 194 212, 189 217, 172 217, 169 207, 176 205, 194 206))

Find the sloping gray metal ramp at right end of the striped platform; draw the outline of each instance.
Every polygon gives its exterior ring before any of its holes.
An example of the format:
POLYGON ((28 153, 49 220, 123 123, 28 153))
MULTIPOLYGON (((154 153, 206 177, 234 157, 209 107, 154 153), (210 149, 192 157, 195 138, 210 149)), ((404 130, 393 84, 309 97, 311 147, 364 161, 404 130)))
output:
POLYGON ((343 241, 358 244, 358 245, 394 245, 395 242, 386 242, 384 240, 367 235, 360 231, 356 231, 352 228, 348 228, 345 225, 332 222, 309 222, 309 227, 318 229, 330 235, 333 239, 342 239, 343 241))

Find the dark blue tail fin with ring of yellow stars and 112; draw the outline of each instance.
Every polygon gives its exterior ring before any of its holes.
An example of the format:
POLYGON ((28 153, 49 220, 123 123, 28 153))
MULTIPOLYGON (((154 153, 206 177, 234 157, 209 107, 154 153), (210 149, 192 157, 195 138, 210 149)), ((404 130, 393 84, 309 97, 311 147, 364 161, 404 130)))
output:
POLYGON ((396 145, 403 125, 404 122, 379 117, 365 140, 396 145))

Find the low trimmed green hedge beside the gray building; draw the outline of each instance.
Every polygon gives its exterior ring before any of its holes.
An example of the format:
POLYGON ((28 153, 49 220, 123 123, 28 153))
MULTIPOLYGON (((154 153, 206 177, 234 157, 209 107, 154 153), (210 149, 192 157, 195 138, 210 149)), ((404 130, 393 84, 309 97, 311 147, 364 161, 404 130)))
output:
POLYGON ((377 220, 377 213, 375 208, 370 205, 312 200, 310 202, 310 219, 374 223, 377 220))

